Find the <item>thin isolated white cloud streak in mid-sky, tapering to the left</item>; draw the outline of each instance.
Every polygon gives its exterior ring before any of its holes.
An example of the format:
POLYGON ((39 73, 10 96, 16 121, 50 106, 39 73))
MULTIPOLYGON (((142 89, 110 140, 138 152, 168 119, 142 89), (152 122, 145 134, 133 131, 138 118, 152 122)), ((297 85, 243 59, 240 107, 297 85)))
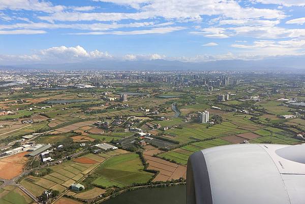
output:
POLYGON ((150 30, 137 31, 111 31, 111 32, 87 32, 87 33, 70 33, 70 35, 146 35, 146 34, 166 34, 174 31, 184 30, 185 27, 156 27, 150 30))

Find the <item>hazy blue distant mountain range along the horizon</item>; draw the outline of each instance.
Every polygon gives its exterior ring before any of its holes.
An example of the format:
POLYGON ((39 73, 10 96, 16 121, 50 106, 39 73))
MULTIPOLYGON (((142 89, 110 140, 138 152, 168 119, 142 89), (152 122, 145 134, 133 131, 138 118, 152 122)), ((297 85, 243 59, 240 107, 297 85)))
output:
POLYGON ((220 60, 209 62, 151 61, 88 61, 67 64, 28 64, 0 66, 0 69, 49 70, 295 70, 305 69, 305 56, 285 56, 264 60, 220 60))

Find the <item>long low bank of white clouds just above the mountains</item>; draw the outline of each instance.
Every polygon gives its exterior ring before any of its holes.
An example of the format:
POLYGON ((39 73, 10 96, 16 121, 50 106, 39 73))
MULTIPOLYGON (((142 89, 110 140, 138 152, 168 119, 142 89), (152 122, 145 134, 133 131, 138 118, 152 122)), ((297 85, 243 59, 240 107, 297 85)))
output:
POLYGON ((81 46, 66 47, 58 46, 38 50, 34 54, 24 55, 1 55, 0 64, 62 64, 78 62, 96 62, 103 60, 114 61, 147 61, 147 60, 179 60, 182 62, 208 62, 218 60, 259 60, 270 56, 280 55, 303 55, 305 54, 305 40, 285 41, 255 41, 251 45, 232 44, 234 48, 240 48, 240 52, 227 52, 223 54, 199 54, 195 56, 168 57, 164 54, 126 54, 124 56, 113 56, 108 52, 99 50, 88 51, 81 46), (247 49, 247 52, 242 51, 247 49))

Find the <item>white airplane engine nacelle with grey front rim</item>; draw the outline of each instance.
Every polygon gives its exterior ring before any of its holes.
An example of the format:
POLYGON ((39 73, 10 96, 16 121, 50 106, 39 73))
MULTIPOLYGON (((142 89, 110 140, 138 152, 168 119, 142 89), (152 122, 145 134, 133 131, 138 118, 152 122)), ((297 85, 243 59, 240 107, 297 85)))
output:
POLYGON ((187 204, 264 203, 305 203, 305 144, 233 144, 190 156, 187 204))

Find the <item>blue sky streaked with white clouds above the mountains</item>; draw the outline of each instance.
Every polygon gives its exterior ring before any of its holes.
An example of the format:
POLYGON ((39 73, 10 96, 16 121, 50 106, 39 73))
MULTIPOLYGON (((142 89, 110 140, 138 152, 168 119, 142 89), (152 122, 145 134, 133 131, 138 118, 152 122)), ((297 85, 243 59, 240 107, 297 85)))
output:
POLYGON ((0 65, 305 55, 305 0, 0 0, 0 65))

